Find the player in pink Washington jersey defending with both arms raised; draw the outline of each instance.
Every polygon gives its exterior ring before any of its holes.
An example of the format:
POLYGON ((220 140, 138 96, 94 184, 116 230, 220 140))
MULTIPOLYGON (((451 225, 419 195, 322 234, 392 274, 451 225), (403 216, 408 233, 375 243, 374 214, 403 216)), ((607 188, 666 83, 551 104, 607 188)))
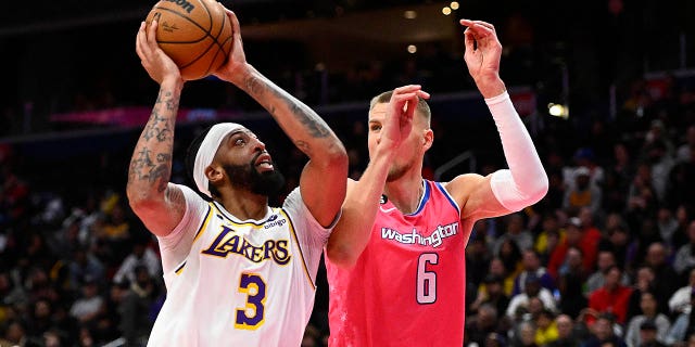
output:
MULTIPOLYGON (((349 181, 327 253, 329 345, 462 346, 465 247, 473 222, 534 204, 547 177, 500 78, 491 24, 462 20, 465 61, 492 113, 509 169, 422 179, 434 134, 429 94, 405 86, 372 99, 369 165, 349 181)), ((462 136, 475 129, 460 129, 462 136)))

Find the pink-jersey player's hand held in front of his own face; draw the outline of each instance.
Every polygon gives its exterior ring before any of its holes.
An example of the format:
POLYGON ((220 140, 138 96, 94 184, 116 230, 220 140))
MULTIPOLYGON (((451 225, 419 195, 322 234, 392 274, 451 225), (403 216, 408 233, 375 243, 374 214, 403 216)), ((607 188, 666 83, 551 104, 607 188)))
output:
POLYGON ((379 143, 393 150, 408 137, 413 129, 413 116, 418 98, 429 99, 430 94, 419 85, 399 87, 393 90, 387 107, 379 143))

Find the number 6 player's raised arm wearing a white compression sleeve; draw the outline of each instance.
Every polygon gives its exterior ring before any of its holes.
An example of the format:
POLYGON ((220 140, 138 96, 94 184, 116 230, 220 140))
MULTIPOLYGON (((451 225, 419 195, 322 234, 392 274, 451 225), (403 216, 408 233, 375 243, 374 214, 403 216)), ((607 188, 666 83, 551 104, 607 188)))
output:
POLYGON ((509 169, 488 177, 464 175, 446 184, 462 206, 462 218, 486 218, 520 210, 539 202, 548 181, 531 137, 500 78, 502 44, 492 24, 462 20, 467 26, 464 55, 470 76, 485 98, 497 126, 509 169))

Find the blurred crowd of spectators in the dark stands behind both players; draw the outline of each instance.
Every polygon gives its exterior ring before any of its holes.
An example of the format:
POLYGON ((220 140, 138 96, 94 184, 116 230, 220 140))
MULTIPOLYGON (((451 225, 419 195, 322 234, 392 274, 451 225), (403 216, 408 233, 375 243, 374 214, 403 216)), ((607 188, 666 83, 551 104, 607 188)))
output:
MULTIPOLYGON (((686 81, 669 80, 659 98, 637 80, 617 117, 593 119, 586 130, 548 116, 535 131, 548 194, 479 221, 462 255, 466 346, 695 344, 695 93, 686 81)), ((467 126, 434 119, 435 136, 467 126)), ((365 119, 333 121, 358 178, 365 119)), ((264 131, 280 141, 279 129, 264 131)), ((462 142, 438 141, 426 160, 429 178, 432 163, 462 142)), ((134 218, 125 174, 117 174, 129 153, 52 166, 65 177, 112 177, 84 184, 46 182, 45 172, 26 169, 17 147, 0 146, 0 346, 142 346, 166 291, 156 241, 134 218)), ((295 184, 305 158, 291 145, 271 147, 295 184)), ((484 153, 480 174, 504 166, 484 153)), ((177 162, 173 180, 182 177, 177 162)), ((326 295, 319 274, 304 347, 326 342, 326 295)))

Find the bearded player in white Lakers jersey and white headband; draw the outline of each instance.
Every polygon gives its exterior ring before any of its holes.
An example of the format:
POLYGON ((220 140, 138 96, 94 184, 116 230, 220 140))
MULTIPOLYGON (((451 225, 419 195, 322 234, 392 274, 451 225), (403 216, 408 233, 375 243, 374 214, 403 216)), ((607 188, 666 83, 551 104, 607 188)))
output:
POLYGON ((314 304, 315 277, 345 195, 342 143, 306 105, 247 63, 239 22, 217 77, 245 91, 309 160, 281 208, 268 194, 283 180, 265 145, 238 124, 194 140, 187 170, 198 192, 168 182, 180 72, 157 47, 156 24, 140 26, 137 52, 160 83, 128 172, 134 211, 156 235, 167 297, 148 346, 299 346, 314 304))

